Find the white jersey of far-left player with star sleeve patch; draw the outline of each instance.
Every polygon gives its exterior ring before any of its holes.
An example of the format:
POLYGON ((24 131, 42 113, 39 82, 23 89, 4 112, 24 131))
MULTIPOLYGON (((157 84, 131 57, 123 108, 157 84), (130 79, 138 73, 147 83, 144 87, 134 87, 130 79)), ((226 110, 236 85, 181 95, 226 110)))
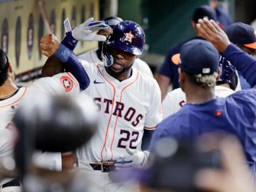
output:
MULTIPOLYGON (((19 103, 21 103, 24 97, 26 97, 28 94, 33 95, 33 93, 39 92, 50 95, 79 95, 79 91, 79 83, 75 77, 71 75, 71 73, 59 73, 53 77, 43 77, 41 79, 37 79, 31 86, 21 87, 18 89, 15 95, 7 99, 0 100, 0 129, 9 129, 12 127, 11 121, 13 119, 13 115, 15 114, 19 103)), ((51 159, 54 161, 54 163, 51 162, 51 165, 56 166, 54 168, 55 170, 61 170, 61 154, 56 153, 56 155, 50 155, 51 159)), ((46 158, 45 155, 42 157, 46 158)))

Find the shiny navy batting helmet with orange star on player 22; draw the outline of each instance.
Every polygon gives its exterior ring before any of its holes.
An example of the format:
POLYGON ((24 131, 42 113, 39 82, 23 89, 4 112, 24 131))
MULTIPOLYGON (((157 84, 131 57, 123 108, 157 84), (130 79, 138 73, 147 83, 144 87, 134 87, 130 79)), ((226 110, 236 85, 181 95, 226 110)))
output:
POLYGON ((113 56, 109 48, 119 49, 133 55, 141 55, 145 43, 142 27, 133 21, 122 21, 117 24, 103 45, 102 61, 105 66, 113 65, 113 56))

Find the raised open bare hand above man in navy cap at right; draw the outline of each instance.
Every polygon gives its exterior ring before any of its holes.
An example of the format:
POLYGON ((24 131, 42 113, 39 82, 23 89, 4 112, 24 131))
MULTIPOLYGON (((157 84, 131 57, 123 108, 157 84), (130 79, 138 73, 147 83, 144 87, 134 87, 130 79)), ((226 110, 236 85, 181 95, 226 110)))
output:
POLYGON ((226 33, 213 20, 208 20, 207 18, 199 19, 197 29, 203 38, 213 43, 220 53, 223 53, 230 44, 226 33))

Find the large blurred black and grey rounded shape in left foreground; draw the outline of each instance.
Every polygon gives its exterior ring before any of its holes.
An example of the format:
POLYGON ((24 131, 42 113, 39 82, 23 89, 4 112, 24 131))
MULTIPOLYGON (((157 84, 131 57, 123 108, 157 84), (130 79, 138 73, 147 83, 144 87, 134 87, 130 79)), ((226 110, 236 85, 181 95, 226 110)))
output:
POLYGON ((19 132, 31 133, 35 149, 52 152, 73 151, 86 143, 97 127, 97 109, 93 100, 79 97, 28 95, 13 119, 19 132), (33 134, 34 133, 34 134, 33 134))

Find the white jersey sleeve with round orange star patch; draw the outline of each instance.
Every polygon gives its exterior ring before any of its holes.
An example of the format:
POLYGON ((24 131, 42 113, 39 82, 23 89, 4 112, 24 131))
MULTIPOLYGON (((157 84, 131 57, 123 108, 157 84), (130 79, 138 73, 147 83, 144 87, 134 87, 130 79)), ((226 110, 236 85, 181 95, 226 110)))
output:
POLYGON ((79 95, 79 83, 71 73, 59 73, 53 77, 43 77, 29 86, 29 94, 41 91, 49 95, 79 95))

